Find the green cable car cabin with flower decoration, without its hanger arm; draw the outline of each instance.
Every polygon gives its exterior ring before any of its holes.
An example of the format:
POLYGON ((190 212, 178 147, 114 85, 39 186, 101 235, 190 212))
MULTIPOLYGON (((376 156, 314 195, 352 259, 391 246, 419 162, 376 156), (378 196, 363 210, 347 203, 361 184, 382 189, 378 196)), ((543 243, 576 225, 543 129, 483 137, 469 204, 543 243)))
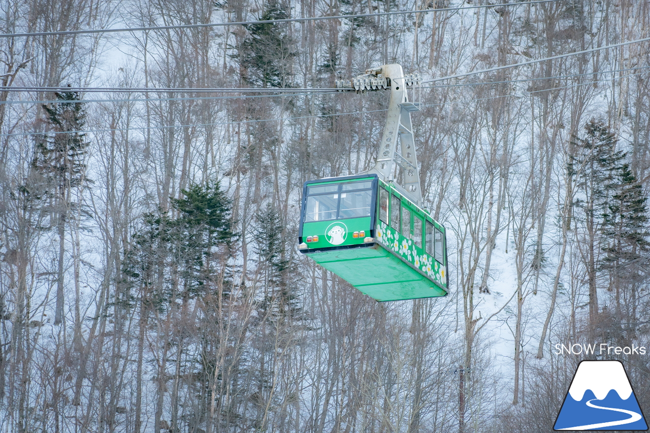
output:
POLYGON ((376 174, 307 181, 298 249, 378 301, 447 295, 445 228, 376 174))

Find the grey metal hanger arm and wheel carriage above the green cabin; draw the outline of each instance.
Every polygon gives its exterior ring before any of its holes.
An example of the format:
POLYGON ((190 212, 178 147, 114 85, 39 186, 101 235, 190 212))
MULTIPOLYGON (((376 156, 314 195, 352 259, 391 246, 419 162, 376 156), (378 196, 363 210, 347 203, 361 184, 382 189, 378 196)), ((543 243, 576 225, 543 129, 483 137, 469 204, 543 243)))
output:
POLYGON ((391 99, 388 105, 386 123, 383 127, 382 141, 374 168, 366 173, 376 173, 385 182, 396 183, 394 170, 402 170, 401 192, 417 205, 422 205, 422 189, 415 156, 415 139, 411 127, 411 112, 419 111, 419 104, 408 101, 406 86, 419 85, 419 75, 404 75, 399 64, 385 64, 379 68, 366 70, 350 81, 337 80, 339 91, 380 90, 390 88, 391 99), (400 140, 400 153, 397 153, 397 138, 400 140))

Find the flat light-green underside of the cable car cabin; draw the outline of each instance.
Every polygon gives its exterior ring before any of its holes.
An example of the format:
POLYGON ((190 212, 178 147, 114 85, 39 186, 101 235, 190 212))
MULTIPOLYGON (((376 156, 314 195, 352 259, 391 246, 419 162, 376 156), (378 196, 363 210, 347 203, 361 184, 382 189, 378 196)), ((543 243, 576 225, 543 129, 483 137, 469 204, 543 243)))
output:
POLYGON ((379 244, 367 248, 308 252, 306 255, 380 302, 447 295, 379 244))

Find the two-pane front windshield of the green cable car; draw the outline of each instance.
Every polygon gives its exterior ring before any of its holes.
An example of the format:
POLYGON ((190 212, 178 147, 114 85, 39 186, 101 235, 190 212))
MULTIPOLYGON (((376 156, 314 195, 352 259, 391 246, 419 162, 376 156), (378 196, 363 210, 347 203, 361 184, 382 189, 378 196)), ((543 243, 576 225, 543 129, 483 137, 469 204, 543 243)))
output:
POLYGON ((370 216, 372 180, 307 187, 305 222, 370 216))

